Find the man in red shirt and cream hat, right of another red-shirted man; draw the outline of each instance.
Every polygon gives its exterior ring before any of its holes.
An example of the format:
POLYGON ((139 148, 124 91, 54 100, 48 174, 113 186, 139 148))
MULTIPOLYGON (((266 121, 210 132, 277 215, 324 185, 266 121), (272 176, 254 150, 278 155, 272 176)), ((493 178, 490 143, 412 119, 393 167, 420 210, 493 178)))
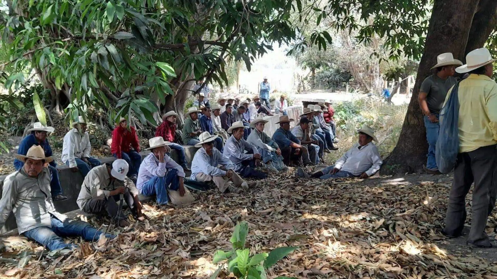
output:
MULTIPOLYGON (((169 144, 166 147, 170 147, 170 149, 174 149, 178 152, 178 164, 183 167, 184 171, 190 171, 188 166, 186 165, 186 159, 185 159, 185 149, 183 146, 180 144, 176 143, 176 121, 177 121, 178 114, 175 113, 174 111, 168 111, 163 117, 162 117, 162 124, 157 127, 156 131, 156 137, 162 137, 164 140, 169 141, 171 144, 169 144)), ((168 149, 167 148, 167 149, 168 149)), ((167 155, 170 156, 170 152, 167 151, 167 155)))

